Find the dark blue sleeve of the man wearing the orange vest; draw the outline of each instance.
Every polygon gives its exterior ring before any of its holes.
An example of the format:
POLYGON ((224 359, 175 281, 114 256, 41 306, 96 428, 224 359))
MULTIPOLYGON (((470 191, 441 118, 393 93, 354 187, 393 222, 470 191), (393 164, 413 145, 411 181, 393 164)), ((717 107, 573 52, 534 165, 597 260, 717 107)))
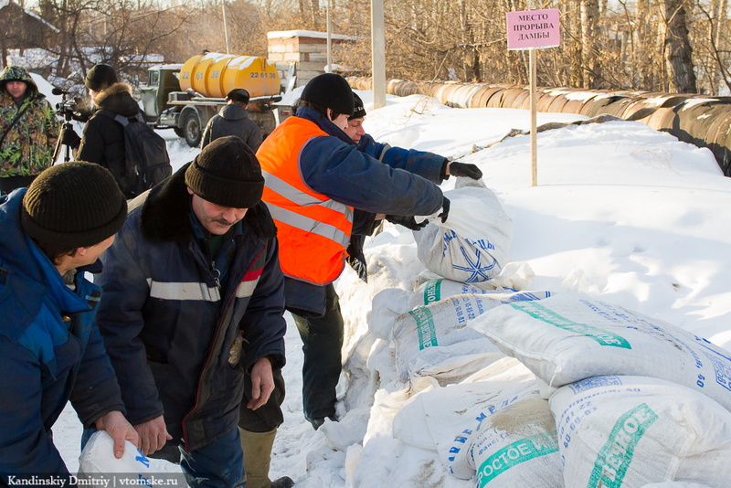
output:
POLYGON ((440 209, 440 187, 382 164, 333 136, 314 137, 300 153, 300 171, 313 190, 376 214, 430 215, 440 209))

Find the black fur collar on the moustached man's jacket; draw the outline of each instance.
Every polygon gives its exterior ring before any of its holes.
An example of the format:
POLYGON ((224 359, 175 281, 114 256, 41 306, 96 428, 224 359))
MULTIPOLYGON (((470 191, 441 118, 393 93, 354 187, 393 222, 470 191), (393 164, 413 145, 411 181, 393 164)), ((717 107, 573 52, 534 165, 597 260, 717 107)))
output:
MULTIPOLYGON (((185 186, 185 164, 160 185, 154 186, 144 198, 141 210, 143 235, 154 242, 194 239, 188 217, 190 196, 185 186)), ((132 203, 132 205, 134 205, 132 203)), ((244 233, 252 231, 260 239, 273 238, 277 233, 274 221, 264 202, 249 208, 243 219, 244 233)))

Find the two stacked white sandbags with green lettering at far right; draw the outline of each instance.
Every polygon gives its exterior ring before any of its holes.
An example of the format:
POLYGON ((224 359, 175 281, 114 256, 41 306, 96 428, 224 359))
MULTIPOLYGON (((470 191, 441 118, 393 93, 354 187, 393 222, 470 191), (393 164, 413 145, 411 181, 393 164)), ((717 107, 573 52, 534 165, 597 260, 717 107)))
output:
POLYGON ((470 325, 558 387, 550 408, 567 486, 728 485, 726 350, 576 293, 506 304, 470 325))

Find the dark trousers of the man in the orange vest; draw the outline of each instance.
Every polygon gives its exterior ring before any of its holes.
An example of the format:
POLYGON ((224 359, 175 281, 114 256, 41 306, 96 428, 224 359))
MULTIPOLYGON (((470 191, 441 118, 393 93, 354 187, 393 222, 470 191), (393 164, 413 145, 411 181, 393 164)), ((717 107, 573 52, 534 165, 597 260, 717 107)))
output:
POLYGON ((302 403, 308 420, 334 417, 340 371, 343 368, 343 315, 335 287, 325 287, 325 313, 305 317, 292 313, 302 337, 302 403))

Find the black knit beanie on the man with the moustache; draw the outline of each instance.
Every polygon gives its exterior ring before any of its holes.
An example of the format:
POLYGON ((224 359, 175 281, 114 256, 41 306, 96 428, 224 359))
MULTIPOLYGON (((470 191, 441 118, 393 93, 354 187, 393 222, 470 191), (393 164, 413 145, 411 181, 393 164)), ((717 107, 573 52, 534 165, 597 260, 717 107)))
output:
POLYGON ((185 170, 185 185, 221 207, 251 208, 261 201, 264 177, 257 156, 235 135, 209 143, 185 170))

